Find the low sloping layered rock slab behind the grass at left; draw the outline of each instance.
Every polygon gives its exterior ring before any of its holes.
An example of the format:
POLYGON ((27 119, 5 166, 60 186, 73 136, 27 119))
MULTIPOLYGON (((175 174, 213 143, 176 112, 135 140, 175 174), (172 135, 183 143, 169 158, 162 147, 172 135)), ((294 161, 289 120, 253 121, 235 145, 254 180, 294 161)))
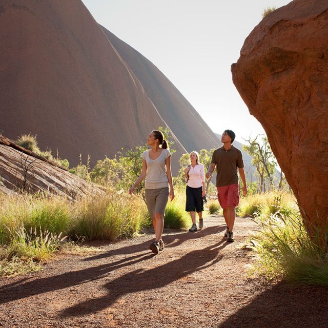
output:
POLYGON ((87 181, 69 173, 0 135, 0 192, 44 192, 72 199, 103 193, 87 181))

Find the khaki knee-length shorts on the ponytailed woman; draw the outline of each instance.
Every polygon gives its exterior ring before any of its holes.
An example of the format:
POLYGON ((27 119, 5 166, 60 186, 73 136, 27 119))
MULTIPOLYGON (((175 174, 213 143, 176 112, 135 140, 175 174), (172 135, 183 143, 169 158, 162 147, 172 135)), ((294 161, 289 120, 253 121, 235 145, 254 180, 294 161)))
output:
POLYGON ((169 187, 158 189, 146 189, 147 208, 151 218, 155 213, 164 214, 169 200, 169 187))

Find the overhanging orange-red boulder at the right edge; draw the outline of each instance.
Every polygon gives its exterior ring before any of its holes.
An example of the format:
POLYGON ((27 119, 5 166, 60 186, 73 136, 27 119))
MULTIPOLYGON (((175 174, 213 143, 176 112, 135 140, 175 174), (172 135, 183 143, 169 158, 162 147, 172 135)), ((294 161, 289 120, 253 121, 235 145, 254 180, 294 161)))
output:
POLYGON ((326 227, 328 2, 294 0, 264 17, 232 75, 268 135, 308 229, 326 227))

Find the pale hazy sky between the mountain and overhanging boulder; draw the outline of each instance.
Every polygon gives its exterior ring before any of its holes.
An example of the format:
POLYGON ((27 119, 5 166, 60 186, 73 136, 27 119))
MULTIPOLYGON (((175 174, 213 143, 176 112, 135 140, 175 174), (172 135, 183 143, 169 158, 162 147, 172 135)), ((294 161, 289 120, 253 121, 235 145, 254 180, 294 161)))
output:
POLYGON ((267 7, 289 0, 83 0, 95 20, 148 58, 216 133, 264 133, 230 66, 267 7))

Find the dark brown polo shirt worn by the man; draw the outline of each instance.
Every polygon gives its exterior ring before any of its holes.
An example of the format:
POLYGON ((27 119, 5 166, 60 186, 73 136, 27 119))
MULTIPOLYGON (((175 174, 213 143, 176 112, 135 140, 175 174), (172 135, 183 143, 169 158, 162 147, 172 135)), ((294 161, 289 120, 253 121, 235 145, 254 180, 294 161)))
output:
POLYGON ((243 168, 242 154, 234 146, 227 151, 222 146, 212 155, 212 162, 216 164, 216 187, 238 184, 238 168, 243 168))

